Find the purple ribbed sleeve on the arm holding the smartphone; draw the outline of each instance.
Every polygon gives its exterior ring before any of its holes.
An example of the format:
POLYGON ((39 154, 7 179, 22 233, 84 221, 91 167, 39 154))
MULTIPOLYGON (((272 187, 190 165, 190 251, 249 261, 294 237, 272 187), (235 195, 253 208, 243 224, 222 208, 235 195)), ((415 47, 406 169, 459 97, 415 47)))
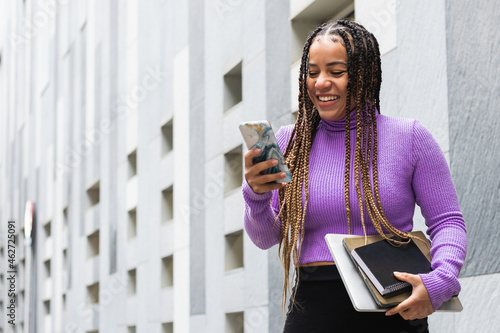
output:
MULTIPOLYGON (((282 127, 276 132, 276 141, 282 153, 292 130, 293 125, 282 127)), ((242 192, 245 200, 243 224, 252 242, 261 249, 278 244, 281 233, 281 222, 276 220, 279 211, 278 191, 255 193, 247 180, 243 179, 242 192)))

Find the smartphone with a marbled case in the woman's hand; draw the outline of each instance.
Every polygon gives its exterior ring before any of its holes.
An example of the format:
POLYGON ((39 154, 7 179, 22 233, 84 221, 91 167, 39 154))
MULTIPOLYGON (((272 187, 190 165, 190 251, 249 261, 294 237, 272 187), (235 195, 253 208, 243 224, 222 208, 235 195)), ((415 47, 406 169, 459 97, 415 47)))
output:
POLYGON ((261 174, 272 174, 285 172, 285 178, 273 181, 273 183, 289 183, 292 176, 285 163, 285 158, 276 142, 271 124, 267 120, 251 121, 240 124, 241 135, 248 150, 259 148, 260 154, 253 158, 253 163, 259 163, 270 159, 278 160, 278 165, 263 170, 261 174))

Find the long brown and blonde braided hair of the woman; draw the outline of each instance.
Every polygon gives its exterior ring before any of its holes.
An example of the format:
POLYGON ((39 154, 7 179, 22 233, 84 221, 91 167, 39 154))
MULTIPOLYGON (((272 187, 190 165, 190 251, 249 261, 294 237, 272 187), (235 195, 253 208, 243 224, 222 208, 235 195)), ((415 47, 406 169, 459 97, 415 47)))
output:
MULTIPOLYGON (((351 209, 349 204, 349 180, 351 169, 351 103, 355 104, 356 146, 354 150, 354 174, 356 195, 361 211, 361 223, 366 236, 364 210, 377 232, 384 238, 384 227, 391 234, 408 240, 411 235, 393 227, 387 220, 378 190, 377 170, 377 123, 376 112, 380 112, 380 84, 382 71, 380 51, 375 36, 362 25, 340 20, 324 23, 317 27, 304 45, 299 75, 299 111, 297 121, 287 144, 284 157, 287 161, 292 182, 279 189, 281 235, 279 243, 280 259, 285 279, 282 294, 284 310, 289 290, 290 264, 293 258, 297 266, 300 257, 300 245, 304 240, 304 220, 309 201, 309 156, 314 133, 321 120, 307 92, 309 70, 309 49, 319 36, 341 43, 347 51, 347 102, 345 116, 345 179, 344 193, 349 234, 351 233, 351 209), (373 174, 373 187, 370 181, 370 169, 373 174), (305 191, 305 202, 302 196, 305 191)), ((413 238, 413 237, 412 237, 413 238)), ((394 243, 405 243, 392 241, 394 243)), ((407 242, 407 241, 406 241, 407 242)), ((297 270, 298 273, 298 270, 297 270)), ((298 276, 297 276, 298 278, 298 276)), ((292 295, 292 301, 294 295, 292 295)))

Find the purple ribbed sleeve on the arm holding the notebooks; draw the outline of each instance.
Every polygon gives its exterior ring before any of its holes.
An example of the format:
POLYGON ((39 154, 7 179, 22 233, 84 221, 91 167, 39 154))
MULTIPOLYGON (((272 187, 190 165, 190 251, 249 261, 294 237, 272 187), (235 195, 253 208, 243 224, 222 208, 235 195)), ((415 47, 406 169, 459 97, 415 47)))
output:
POLYGON ((412 140, 413 190, 432 243, 432 269, 420 274, 432 306, 460 292, 458 275, 467 249, 466 228, 445 157, 431 133, 415 121, 412 140))

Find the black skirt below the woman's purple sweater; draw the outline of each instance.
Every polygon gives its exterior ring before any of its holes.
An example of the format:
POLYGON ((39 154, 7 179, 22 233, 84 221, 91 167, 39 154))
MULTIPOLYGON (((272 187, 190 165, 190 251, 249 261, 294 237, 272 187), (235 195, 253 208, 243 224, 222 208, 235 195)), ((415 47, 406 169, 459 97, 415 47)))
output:
POLYGON ((283 333, 428 332, 427 318, 356 311, 335 265, 299 269, 299 283, 292 291, 297 290, 295 303, 288 306, 283 333))

